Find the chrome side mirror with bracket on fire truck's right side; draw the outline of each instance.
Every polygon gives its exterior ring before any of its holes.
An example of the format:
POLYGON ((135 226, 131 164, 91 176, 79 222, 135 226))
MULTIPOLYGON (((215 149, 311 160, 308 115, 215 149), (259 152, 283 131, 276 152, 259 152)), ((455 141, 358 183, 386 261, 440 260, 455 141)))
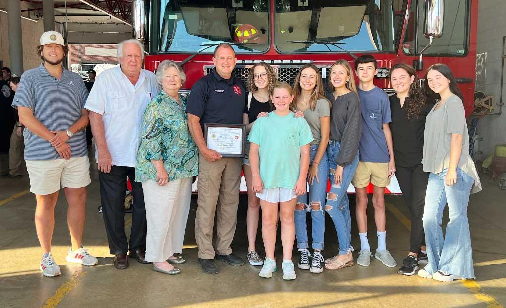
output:
POLYGON ((429 39, 429 44, 421 50, 419 59, 413 61, 413 67, 417 71, 424 69, 422 56, 432 45, 434 38, 443 35, 444 0, 425 0, 424 4, 424 35, 429 39))

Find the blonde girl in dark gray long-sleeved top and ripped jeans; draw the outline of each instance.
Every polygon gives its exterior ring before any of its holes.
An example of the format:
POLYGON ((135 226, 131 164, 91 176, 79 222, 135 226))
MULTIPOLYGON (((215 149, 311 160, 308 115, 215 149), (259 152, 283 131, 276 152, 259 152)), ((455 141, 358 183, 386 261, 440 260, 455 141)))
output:
POLYGON ((327 158, 331 186, 325 211, 338 234, 339 253, 325 260, 325 269, 340 270, 354 265, 347 190, 358 166, 362 115, 350 64, 345 60, 332 64, 329 81, 332 92, 327 98, 332 102, 332 117, 327 158))

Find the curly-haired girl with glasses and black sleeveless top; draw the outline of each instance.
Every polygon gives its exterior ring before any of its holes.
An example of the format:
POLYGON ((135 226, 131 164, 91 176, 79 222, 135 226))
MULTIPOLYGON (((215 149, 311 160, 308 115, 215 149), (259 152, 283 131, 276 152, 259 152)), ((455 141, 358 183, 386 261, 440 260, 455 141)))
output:
MULTIPOLYGON (((272 94, 276 77, 272 67, 264 62, 256 63, 249 69, 247 87, 250 91, 246 96, 246 105, 244 107, 243 123, 246 124, 246 134, 249 133, 257 116, 261 113, 267 113, 274 110, 274 106, 269 99, 272 94)), ((248 210, 246 213, 246 230, 248 235, 248 262, 254 266, 263 265, 264 262, 255 250, 255 240, 257 238, 258 221, 260 213, 260 199, 251 189, 252 177, 249 167, 249 142, 246 140, 246 157, 242 160, 242 170, 246 187, 248 190, 248 210)))

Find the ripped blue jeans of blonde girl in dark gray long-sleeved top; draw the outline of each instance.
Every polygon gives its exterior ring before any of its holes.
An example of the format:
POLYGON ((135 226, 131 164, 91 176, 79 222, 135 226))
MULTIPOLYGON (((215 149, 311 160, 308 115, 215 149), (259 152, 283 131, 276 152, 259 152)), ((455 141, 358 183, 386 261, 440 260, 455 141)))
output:
POLYGON ((353 250, 351 246, 351 215, 350 200, 348 199, 348 187, 350 186, 353 175, 358 167, 358 151, 353 161, 346 165, 343 170, 343 179, 341 187, 335 185, 334 171, 337 167, 339 148, 341 144, 338 141, 330 140, 327 146, 327 159, 330 180, 330 191, 327 194, 327 203, 325 212, 328 213, 334 223, 335 232, 339 238, 339 254, 347 254, 353 250))

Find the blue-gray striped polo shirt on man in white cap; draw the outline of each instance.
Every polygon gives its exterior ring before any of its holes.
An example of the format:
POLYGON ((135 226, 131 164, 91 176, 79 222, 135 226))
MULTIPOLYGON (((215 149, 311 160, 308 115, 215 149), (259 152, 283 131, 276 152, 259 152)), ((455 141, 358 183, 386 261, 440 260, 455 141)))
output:
MULTIPOLYGON (((49 130, 67 130, 82 116, 87 98, 88 89, 78 74, 64 69, 62 77, 57 79, 41 64, 21 75, 12 106, 30 108, 33 116, 49 130)), ((26 161, 60 158, 51 143, 27 127, 23 135, 26 161)), ((67 144, 71 148, 71 157, 88 156, 85 130, 75 133, 67 144)))

